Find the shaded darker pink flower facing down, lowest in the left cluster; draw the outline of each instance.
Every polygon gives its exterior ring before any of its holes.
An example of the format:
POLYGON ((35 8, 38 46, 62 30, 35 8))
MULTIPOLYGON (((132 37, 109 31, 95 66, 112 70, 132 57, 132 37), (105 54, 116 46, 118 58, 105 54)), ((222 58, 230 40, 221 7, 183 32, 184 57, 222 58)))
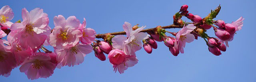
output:
POLYGON ((24 72, 28 76, 28 79, 31 80, 48 78, 52 76, 56 65, 56 62, 51 62, 49 54, 37 52, 36 55, 30 56, 22 63, 20 72, 24 72))

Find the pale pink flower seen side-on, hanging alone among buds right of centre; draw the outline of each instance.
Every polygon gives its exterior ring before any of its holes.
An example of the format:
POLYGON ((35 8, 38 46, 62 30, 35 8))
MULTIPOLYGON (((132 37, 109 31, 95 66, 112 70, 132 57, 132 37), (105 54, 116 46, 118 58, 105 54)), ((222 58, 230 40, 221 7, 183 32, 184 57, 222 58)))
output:
POLYGON ((178 49, 181 53, 184 53, 183 48, 185 48, 186 42, 190 43, 194 41, 195 36, 193 34, 190 34, 196 26, 194 24, 188 24, 187 26, 184 26, 180 31, 176 34, 176 40, 178 41, 178 49))

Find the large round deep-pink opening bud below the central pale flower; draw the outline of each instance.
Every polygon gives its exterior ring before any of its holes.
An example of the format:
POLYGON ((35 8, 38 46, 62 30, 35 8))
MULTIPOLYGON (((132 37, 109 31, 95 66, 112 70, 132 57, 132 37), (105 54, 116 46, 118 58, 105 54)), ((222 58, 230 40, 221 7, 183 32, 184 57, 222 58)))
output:
POLYGON ((114 49, 109 52, 108 58, 111 64, 118 65, 126 60, 126 54, 122 50, 114 49))

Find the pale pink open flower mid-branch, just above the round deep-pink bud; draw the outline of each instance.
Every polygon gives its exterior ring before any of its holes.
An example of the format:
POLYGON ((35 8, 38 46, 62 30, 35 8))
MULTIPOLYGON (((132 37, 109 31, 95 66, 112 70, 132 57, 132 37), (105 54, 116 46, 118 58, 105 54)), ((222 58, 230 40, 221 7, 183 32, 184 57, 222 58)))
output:
POLYGON ((135 52, 141 49, 142 40, 149 37, 148 34, 140 32, 146 26, 142 26, 136 30, 132 30, 132 25, 128 22, 124 22, 123 29, 126 32, 126 37, 123 35, 117 35, 112 38, 112 46, 115 49, 122 49, 127 55, 135 55, 135 52))

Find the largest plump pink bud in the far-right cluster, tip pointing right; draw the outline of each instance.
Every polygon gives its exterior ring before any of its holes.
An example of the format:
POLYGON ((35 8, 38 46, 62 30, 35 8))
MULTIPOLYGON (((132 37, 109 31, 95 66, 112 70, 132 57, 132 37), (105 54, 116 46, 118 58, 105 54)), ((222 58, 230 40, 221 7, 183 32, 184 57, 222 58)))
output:
POLYGON ((220 38, 220 40, 228 40, 230 38, 230 34, 221 28, 217 28, 217 32, 215 32, 215 35, 220 38))

